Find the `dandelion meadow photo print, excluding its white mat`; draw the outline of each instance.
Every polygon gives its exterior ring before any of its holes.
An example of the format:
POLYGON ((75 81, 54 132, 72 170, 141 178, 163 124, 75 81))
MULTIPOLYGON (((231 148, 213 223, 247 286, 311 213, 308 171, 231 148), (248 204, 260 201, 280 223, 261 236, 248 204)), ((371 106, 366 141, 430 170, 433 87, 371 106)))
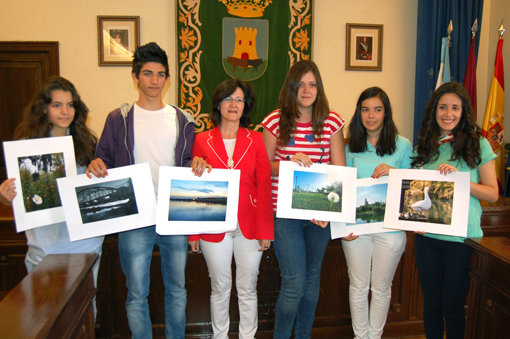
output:
POLYGON ((342 182, 328 173, 294 171, 292 208, 342 212, 342 182))

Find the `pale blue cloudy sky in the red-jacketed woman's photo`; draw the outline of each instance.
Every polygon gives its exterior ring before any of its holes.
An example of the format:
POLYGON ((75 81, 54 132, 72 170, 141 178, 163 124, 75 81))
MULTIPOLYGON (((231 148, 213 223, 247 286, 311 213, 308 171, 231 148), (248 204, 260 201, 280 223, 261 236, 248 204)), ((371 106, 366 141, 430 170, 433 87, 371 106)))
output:
POLYGON ((172 197, 226 197, 228 181, 198 181, 172 179, 170 196, 172 197))

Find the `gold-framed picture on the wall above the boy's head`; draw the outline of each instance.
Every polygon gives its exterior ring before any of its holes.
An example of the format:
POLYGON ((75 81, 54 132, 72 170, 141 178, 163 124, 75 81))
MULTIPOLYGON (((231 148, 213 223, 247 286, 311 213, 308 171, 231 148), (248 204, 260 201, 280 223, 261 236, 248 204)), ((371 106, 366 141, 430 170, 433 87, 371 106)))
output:
POLYGON ((139 16, 97 16, 99 66, 131 65, 140 45, 139 16))

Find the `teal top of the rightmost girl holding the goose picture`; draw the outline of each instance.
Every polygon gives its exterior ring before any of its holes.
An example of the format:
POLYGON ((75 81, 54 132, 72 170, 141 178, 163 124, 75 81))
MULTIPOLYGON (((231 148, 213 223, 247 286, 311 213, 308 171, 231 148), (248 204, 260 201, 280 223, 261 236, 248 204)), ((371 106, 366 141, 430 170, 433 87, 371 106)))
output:
MULTIPOLYGON (((478 167, 469 168, 466 162, 462 159, 451 161, 452 146, 450 143, 442 144, 439 146, 439 157, 436 160, 431 160, 423 166, 423 169, 437 169, 442 163, 446 163, 455 166, 460 172, 469 172, 470 181, 474 183, 480 182, 480 174, 478 173, 478 167)), ((496 154, 492 151, 489 141, 485 138, 480 138, 480 165, 486 164, 491 160, 497 158, 496 154)), ((479 165, 479 166, 480 166, 479 165)), ((482 216, 482 207, 480 201, 473 195, 469 196, 469 216, 468 216, 468 238, 479 238, 483 236, 482 228, 480 226, 480 218, 482 216)), ((445 241, 464 242, 466 238, 444 235, 444 234, 433 234, 426 233, 425 236, 445 241)))

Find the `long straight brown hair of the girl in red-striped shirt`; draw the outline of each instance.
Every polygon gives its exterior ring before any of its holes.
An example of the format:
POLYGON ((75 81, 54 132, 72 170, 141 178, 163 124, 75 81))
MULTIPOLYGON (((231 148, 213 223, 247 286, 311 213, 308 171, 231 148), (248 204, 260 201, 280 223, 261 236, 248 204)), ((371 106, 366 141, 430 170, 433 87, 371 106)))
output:
POLYGON ((280 92, 280 133, 278 142, 280 145, 287 145, 291 139, 291 133, 296 128, 296 120, 299 118, 297 92, 301 78, 308 72, 315 76, 317 84, 317 98, 313 103, 312 126, 313 134, 321 136, 324 128, 324 121, 329 116, 329 103, 324 92, 321 74, 317 65, 311 60, 296 62, 289 69, 282 90, 280 92))

